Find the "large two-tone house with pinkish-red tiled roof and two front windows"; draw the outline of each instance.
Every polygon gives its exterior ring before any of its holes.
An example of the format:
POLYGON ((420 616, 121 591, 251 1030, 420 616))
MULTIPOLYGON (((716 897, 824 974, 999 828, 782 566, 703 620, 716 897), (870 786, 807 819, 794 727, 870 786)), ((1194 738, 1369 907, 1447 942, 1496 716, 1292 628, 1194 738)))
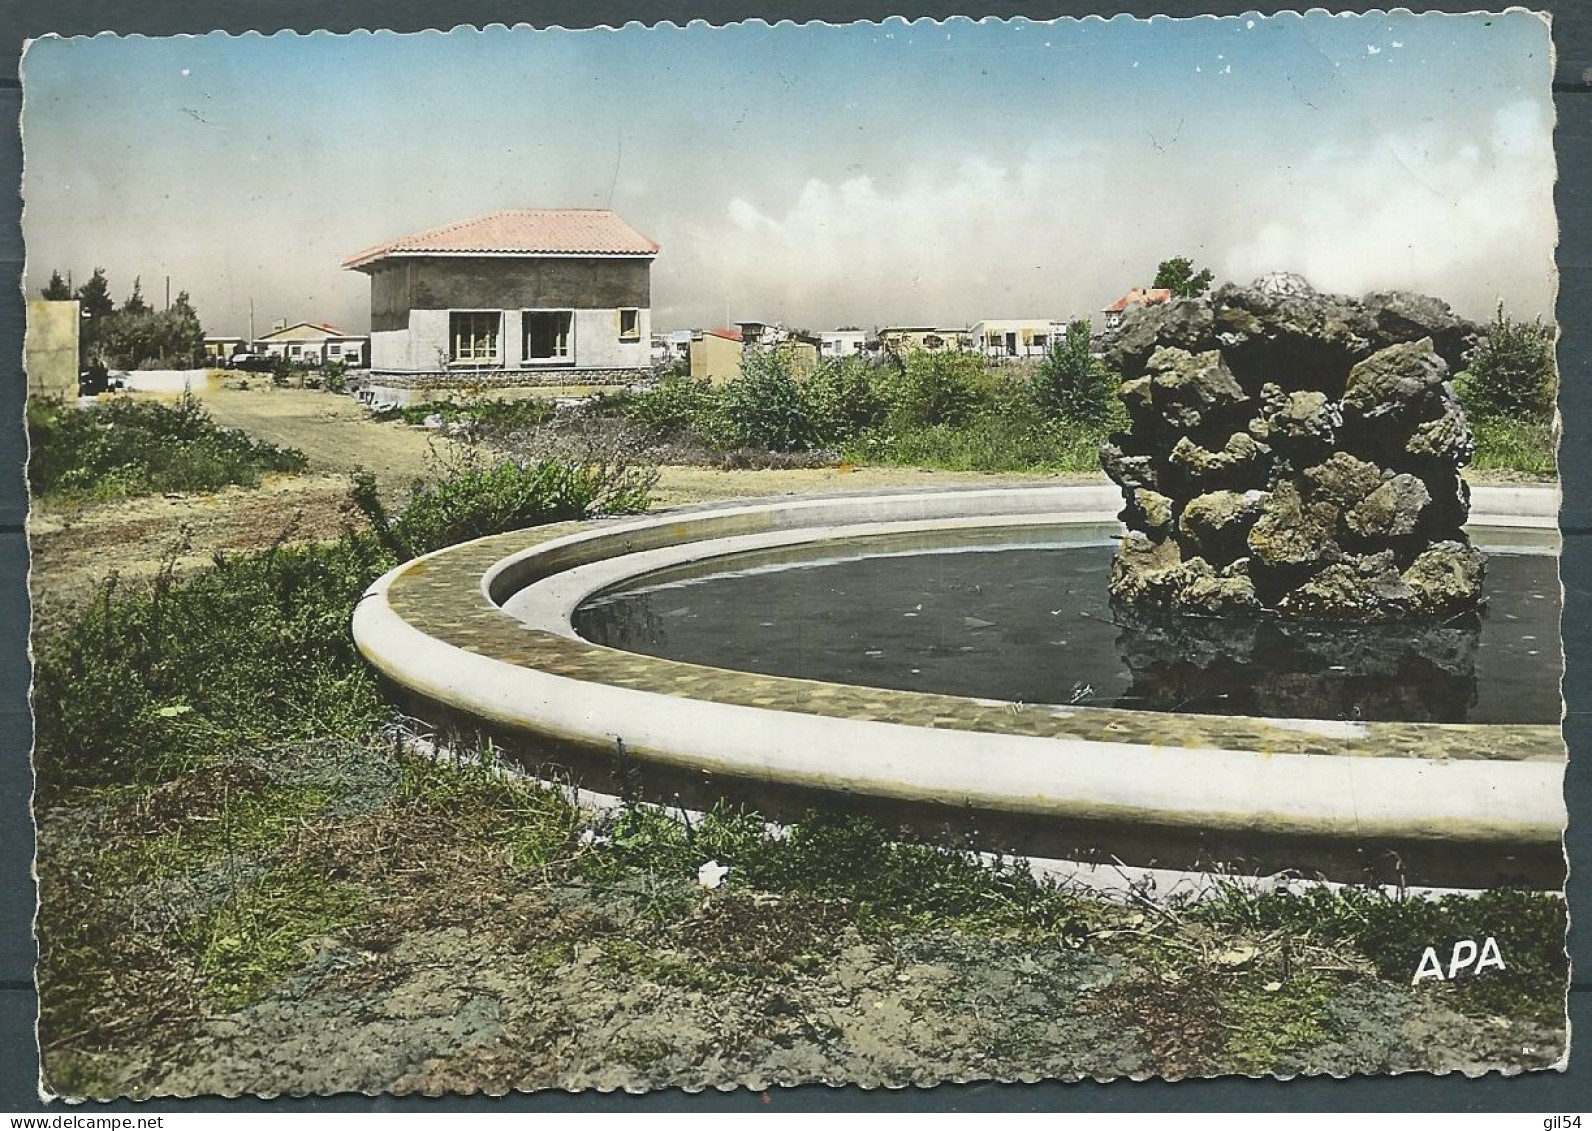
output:
POLYGON ((626 384, 651 365, 657 244, 605 209, 513 209, 350 255, 371 277, 371 385, 626 384))

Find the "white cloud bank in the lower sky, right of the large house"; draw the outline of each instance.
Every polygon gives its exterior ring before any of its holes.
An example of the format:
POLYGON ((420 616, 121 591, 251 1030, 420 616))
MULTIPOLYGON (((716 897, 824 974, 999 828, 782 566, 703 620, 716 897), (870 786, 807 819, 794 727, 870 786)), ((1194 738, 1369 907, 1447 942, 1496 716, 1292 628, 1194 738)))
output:
POLYGON ((1423 290, 1476 317, 1498 296, 1547 311, 1552 153, 1535 104, 1479 131, 1361 137, 1272 159, 1169 126, 1110 156, 923 155, 896 178, 812 178, 783 201, 742 185, 656 233, 659 325, 1068 317, 1169 255, 1239 282, 1285 269, 1325 290, 1423 290))

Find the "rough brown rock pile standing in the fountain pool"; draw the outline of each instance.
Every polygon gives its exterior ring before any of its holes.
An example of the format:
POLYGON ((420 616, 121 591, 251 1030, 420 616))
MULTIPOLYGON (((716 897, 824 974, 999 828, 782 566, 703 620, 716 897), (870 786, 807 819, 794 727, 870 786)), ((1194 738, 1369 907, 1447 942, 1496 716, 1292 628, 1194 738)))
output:
POLYGON ((1127 535, 1114 601, 1285 620, 1447 618, 1481 601, 1473 441, 1446 303, 1297 276, 1134 311, 1106 344, 1129 427, 1100 449, 1127 535))

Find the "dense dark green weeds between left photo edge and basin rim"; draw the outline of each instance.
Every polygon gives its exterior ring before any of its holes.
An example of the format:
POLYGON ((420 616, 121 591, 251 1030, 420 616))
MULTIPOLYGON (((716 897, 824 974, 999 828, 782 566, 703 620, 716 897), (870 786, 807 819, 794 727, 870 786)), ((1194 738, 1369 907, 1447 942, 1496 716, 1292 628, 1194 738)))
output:
POLYGON ((357 738, 388 707, 349 618, 396 559, 373 538, 218 558, 151 586, 115 580, 37 642, 40 787, 154 782, 237 746, 357 738))

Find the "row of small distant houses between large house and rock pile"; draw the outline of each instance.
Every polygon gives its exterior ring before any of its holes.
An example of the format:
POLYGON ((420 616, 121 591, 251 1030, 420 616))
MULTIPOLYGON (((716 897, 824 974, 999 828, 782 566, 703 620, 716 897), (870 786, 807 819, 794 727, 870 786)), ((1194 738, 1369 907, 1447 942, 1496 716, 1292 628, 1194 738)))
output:
MULTIPOLYGON (((1122 315, 1137 306, 1172 301, 1172 292, 1135 287, 1102 314, 1103 328, 1114 330, 1122 315)), ((747 347, 772 349, 786 357, 802 376, 820 362, 912 350, 981 354, 990 362, 1044 357, 1067 333, 1068 320, 985 319, 968 327, 882 327, 872 333, 855 327, 807 333, 769 322, 737 322, 712 330, 677 330, 653 336, 654 362, 688 362, 696 381, 726 381, 740 373, 747 347)))

